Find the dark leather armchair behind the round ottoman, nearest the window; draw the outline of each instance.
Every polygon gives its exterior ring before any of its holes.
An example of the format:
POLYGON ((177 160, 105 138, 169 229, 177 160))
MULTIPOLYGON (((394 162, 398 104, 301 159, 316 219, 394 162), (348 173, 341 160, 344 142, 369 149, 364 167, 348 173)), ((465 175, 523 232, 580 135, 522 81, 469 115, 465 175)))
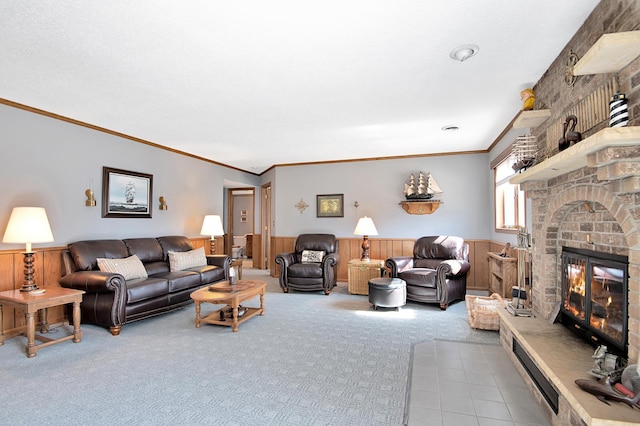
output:
POLYGON ((391 278, 407 283, 407 299, 438 303, 445 310, 455 300, 464 300, 469 272, 469 244, 447 235, 419 238, 413 256, 387 259, 391 278))

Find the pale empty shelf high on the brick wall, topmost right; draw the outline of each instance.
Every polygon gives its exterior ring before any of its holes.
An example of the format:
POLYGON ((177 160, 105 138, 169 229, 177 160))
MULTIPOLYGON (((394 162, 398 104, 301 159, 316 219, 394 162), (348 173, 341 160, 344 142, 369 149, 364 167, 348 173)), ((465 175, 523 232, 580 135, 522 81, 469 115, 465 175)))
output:
POLYGON ((573 75, 618 72, 640 56, 640 31, 603 34, 573 67, 573 75))

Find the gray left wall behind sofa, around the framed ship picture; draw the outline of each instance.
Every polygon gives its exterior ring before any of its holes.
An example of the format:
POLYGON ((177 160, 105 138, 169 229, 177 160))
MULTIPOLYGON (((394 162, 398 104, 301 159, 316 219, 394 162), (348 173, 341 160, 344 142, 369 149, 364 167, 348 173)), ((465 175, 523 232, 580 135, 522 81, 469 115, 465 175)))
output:
MULTIPOLYGON (((254 186, 257 176, 0 105, 0 233, 11 209, 42 206, 54 243, 90 238, 200 234, 205 214, 224 214, 225 179, 254 186), (153 175, 151 219, 101 217, 102 167, 153 175), (97 207, 85 207, 93 180, 97 207), (169 209, 158 209, 164 195, 169 209)), ((0 244, 2 249, 19 245, 0 244)))

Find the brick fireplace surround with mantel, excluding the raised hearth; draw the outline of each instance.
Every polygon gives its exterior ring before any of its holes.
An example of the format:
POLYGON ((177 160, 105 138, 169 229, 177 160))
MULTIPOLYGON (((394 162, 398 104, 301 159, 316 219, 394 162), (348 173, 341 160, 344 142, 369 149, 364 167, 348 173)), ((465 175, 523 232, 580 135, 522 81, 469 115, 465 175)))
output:
POLYGON ((637 360, 640 354, 640 129, 604 129, 584 142, 583 147, 575 146, 575 152, 562 154, 568 154, 565 155, 567 161, 584 157, 587 166, 562 173, 562 159, 552 158, 548 160, 551 164, 540 164, 537 175, 522 178, 533 209, 531 301, 534 311, 544 318, 549 318, 560 302, 563 246, 628 256, 628 355, 629 359, 637 360), (533 180, 549 172, 558 176, 533 180))

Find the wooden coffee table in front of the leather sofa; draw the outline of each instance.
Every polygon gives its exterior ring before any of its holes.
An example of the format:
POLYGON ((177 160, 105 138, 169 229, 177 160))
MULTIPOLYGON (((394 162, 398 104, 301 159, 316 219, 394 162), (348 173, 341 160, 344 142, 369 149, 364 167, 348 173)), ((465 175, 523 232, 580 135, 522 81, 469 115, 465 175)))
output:
POLYGON ((221 281, 191 293, 191 298, 196 303, 196 328, 200 328, 201 322, 207 324, 226 325, 232 327, 234 332, 238 331, 238 326, 258 314, 264 315, 264 293, 267 283, 257 280, 238 280, 235 285, 231 285, 229 281, 221 281), (238 317, 238 308, 240 303, 252 299, 260 295, 260 307, 246 307, 246 311, 242 317, 238 317), (224 307, 218 309, 205 317, 200 317, 200 304, 202 302, 225 304, 224 307), (221 318, 221 312, 230 307, 233 310, 232 318, 221 318))

